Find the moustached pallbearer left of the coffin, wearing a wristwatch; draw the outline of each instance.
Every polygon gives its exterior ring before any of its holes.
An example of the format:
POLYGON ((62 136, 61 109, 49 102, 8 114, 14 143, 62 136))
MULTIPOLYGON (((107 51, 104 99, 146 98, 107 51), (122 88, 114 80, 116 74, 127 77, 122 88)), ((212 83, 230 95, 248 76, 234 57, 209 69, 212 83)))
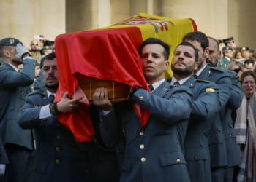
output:
MULTIPOLYGON (((53 103, 59 87, 55 53, 45 56, 43 80, 46 90, 39 87, 31 92, 18 116, 20 127, 34 129, 36 136, 34 181, 118 181, 120 172, 116 151, 99 149, 92 141, 76 142, 72 132, 56 118, 57 114, 80 106, 78 101, 82 98, 68 98, 65 92, 59 103, 53 103)), ((90 109, 97 142, 102 145, 97 131, 99 114, 96 107, 90 109)))

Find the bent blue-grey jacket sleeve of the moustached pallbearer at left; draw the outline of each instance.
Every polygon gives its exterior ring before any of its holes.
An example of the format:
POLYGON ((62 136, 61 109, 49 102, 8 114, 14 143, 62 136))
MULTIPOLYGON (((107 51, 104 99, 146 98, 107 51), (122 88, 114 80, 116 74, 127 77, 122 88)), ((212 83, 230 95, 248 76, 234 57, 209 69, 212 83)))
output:
POLYGON ((39 119, 39 113, 42 107, 34 107, 31 96, 26 97, 26 103, 21 108, 18 116, 18 124, 22 129, 33 129, 42 122, 39 119))

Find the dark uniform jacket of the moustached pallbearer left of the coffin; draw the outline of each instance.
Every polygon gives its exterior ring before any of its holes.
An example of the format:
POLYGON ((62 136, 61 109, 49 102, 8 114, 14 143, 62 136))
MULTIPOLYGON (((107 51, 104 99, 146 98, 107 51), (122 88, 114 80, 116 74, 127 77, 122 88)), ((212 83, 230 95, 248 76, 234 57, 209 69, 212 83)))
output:
MULTIPOLYGON (((40 120, 39 111, 48 104, 50 100, 45 91, 34 90, 26 98, 18 116, 20 127, 34 128, 37 146, 34 181, 118 181, 120 170, 116 151, 99 149, 95 142, 76 142, 72 132, 56 117, 40 120)), ((95 106, 91 106, 91 120, 97 141, 102 146, 99 114, 95 106)))

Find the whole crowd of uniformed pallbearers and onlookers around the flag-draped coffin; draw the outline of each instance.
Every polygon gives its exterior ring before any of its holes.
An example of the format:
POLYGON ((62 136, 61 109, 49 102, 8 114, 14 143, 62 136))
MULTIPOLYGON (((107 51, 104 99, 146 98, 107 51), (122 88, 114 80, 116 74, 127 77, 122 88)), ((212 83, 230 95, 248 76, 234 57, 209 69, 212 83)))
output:
POLYGON ((0 40, 0 181, 256 181, 253 50, 197 31, 168 60, 170 45, 146 39, 138 53, 148 90, 131 87, 132 100, 114 104, 97 88, 95 138, 78 142, 56 116, 83 97, 54 101, 58 58, 42 43, 0 40), (145 126, 138 106, 151 114, 145 126))

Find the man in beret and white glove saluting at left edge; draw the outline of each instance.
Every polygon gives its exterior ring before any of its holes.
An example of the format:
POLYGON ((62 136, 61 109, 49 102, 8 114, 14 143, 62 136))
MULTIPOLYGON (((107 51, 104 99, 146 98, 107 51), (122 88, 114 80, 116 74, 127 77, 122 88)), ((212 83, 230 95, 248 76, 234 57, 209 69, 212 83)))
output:
POLYGON ((34 82, 36 60, 29 58, 29 50, 18 39, 0 41, 0 135, 10 165, 4 181, 31 181, 34 163, 32 130, 22 130, 17 124, 20 108, 25 104, 28 86, 34 82), (18 65, 23 63, 22 72, 18 65))

